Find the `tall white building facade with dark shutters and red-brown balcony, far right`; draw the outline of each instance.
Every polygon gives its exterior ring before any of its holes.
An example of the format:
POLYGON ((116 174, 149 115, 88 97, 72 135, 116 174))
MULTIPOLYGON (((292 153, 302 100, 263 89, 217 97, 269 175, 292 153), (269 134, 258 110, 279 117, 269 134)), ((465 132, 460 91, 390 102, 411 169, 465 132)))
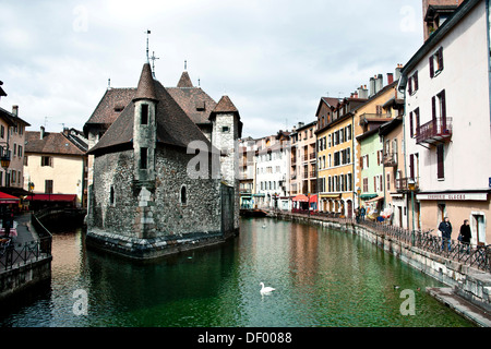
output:
POLYGON ((468 219, 471 244, 480 245, 491 243, 489 4, 465 1, 405 65, 399 84, 416 226, 436 229, 448 217, 456 240, 468 219))

